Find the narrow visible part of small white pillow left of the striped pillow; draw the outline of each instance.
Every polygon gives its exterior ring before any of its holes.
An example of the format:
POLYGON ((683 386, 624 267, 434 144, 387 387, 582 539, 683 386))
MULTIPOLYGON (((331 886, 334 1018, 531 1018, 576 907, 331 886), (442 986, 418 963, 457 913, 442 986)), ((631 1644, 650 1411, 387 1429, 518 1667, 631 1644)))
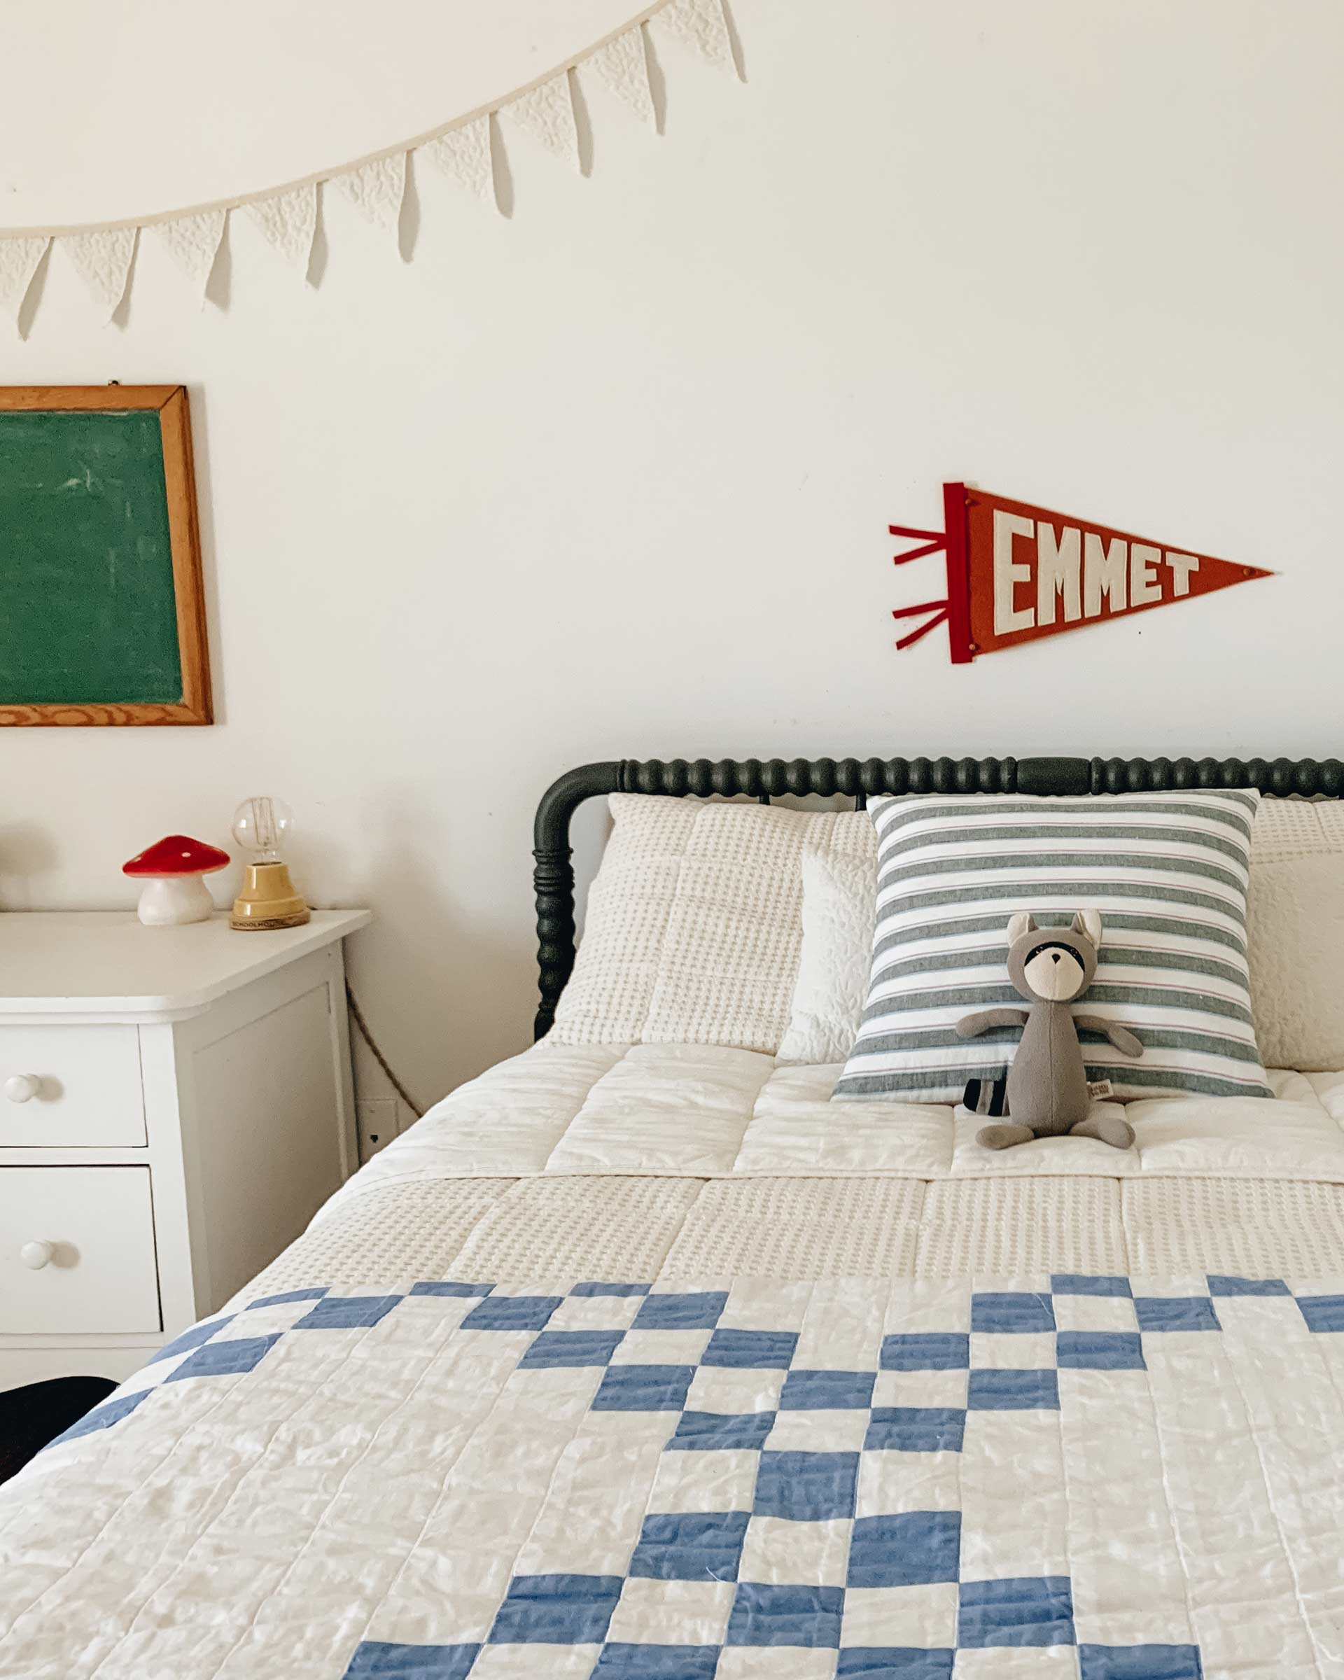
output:
POLYGON ((843 1062, 858 1037, 877 907, 877 835, 867 820, 858 833, 857 855, 803 853, 803 954, 781 1062, 843 1062))

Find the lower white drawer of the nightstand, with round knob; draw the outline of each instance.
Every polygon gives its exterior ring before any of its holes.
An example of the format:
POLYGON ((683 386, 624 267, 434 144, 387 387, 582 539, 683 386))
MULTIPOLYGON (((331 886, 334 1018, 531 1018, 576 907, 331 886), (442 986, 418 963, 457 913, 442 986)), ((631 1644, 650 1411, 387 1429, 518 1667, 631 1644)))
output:
POLYGON ((150 1168, 0 1168, 0 1334, 158 1327, 150 1168))

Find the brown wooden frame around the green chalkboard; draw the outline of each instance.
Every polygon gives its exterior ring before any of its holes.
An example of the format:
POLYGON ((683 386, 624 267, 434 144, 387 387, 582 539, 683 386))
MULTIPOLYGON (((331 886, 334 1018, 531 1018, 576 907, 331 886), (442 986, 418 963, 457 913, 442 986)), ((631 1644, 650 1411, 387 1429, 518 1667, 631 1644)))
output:
POLYGON ((181 660, 181 701, 126 704, 0 704, 0 726, 24 724, 210 724, 210 652, 205 640, 205 586, 200 568, 197 474, 192 462, 192 415, 185 385, 3 385, 0 410, 158 410, 163 479, 168 491, 168 536, 173 549, 173 595, 181 660))

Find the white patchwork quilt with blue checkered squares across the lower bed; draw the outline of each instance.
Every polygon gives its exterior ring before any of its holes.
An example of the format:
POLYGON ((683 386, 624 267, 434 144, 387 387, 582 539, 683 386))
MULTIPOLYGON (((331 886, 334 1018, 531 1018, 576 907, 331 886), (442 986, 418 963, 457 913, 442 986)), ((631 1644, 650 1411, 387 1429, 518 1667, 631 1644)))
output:
POLYGON ((1295 1278, 314 1285, 20 1477, 0 1673, 1324 1677, 1341 1435, 1295 1278))

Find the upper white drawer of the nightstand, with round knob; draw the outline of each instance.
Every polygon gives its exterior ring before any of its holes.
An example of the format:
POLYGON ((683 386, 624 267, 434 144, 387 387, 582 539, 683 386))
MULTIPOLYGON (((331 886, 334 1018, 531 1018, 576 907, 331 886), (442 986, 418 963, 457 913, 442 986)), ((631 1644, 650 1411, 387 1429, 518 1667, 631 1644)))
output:
POLYGON ((0 1161, 143 1142, 134 1026, 0 1026, 0 1161))

